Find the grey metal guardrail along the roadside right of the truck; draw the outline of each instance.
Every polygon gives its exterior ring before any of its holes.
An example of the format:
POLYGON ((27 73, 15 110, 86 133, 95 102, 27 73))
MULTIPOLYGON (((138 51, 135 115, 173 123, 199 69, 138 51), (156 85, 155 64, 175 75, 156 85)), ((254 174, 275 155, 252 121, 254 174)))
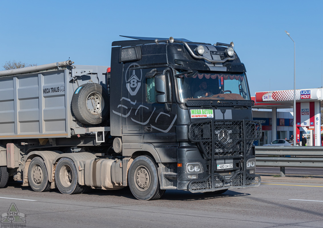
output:
POLYGON ((256 146, 256 166, 323 168, 323 146, 256 146))

